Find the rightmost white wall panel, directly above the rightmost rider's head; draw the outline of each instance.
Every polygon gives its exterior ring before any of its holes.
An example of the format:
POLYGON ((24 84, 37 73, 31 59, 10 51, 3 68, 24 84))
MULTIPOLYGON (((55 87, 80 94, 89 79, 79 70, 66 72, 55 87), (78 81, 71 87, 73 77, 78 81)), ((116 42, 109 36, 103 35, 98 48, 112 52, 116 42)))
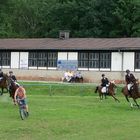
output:
POLYGON ((134 71, 134 52, 124 52, 123 55, 123 71, 129 69, 130 71, 134 71))

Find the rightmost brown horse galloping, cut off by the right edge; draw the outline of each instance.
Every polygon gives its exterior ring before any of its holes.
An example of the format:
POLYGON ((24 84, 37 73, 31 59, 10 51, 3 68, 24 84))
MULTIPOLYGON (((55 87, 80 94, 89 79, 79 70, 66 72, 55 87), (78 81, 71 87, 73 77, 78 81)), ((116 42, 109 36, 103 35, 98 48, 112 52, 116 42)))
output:
POLYGON ((138 79, 136 80, 136 82, 134 82, 133 86, 130 88, 131 90, 131 94, 128 92, 128 87, 127 85, 125 85, 122 88, 122 93, 125 96, 127 102, 130 103, 130 106, 133 107, 134 105, 136 105, 138 108, 140 107, 139 104, 137 103, 136 99, 140 98, 140 92, 139 92, 139 82, 138 79), (132 98, 133 101, 135 102, 135 104, 133 104, 129 98, 132 98))

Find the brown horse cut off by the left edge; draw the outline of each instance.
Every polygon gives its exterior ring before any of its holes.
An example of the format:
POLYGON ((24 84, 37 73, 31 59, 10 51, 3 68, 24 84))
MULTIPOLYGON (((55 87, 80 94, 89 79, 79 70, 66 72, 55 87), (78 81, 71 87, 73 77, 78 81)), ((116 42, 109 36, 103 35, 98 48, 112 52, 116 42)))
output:
POLYGON ((8 92, 8 75, 5 73, 3 73, 3 77, 0 81, 0 88, 1 88, 0 95, 3 95, 4 89, 6 89, 6 92, 8 92))

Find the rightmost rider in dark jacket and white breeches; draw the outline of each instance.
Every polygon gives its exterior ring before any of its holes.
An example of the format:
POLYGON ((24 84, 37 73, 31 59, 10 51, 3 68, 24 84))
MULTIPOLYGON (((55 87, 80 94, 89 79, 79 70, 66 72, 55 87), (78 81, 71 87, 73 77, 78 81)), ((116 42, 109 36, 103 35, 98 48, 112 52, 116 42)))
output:
POLYGON ((132 91, 133 85, 136 83, 136 78, 132 73, 130 73, 129 69, 126 70, 125 82, 128 88, 128 93, 130 96, 132 96, 131 91, 132 91))

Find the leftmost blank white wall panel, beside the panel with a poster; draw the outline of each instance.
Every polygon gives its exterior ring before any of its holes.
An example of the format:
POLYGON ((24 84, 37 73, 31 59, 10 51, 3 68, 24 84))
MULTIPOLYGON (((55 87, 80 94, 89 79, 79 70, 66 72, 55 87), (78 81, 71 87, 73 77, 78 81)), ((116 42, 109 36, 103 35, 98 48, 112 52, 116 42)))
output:
POLYGON ((11 68, 19 68, 19 52, 11 52, 11 68))

